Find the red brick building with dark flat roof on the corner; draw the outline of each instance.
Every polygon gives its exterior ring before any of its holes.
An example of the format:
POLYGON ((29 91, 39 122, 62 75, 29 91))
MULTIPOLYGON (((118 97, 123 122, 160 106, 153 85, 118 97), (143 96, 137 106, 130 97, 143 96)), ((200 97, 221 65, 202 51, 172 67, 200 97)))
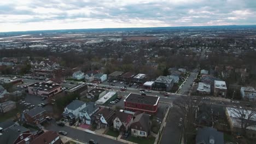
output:
POLYGON ((130 93, 124 100, 125 110, 141 111, 154 115, 158 111, 159 98, 145 94, 130 93))

